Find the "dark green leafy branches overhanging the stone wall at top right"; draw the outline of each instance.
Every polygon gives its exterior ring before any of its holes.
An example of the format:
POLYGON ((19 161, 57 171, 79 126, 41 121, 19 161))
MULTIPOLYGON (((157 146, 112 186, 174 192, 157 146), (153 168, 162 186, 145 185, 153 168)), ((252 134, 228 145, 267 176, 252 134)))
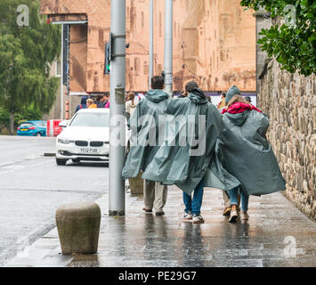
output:
POLYGON ((263 28, 258 44, 274 55, 282 69, 304 76, 316 70, 316 1, 315 0, 242 0, 242 6, 259 10, 260 6, 279 17, 279 24, 263 28))

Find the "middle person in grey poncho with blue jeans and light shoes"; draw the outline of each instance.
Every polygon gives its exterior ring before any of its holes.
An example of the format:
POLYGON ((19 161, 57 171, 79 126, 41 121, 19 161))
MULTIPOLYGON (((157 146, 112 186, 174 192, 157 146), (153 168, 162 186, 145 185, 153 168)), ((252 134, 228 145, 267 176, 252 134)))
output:
POLYGON ((183 218, 204 223, 200 215, 204 176, 214 158, 223 120, 196 82, 189 82, 185 88, 187 98, 170 100, 166 106, 165 142, 142 177, 177 185, 183 191, 183 218))

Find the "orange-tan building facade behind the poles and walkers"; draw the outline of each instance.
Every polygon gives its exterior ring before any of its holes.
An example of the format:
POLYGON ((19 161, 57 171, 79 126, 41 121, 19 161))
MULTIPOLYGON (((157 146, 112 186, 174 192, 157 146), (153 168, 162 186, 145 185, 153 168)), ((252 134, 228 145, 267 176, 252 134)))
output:
MULTIPOLYGON (((240 0, 173 0, 174 91, 194 79, 205 91, 232 84, 255 92, 255 18, 240 0)), ((165 1, 154 0, 154 73, 164 69, 165 1)), ((109 0, 41 0, 51 22, 70 24, 70 93, 109 91, 103 74, 109 38, 109 0)), ((149 82, 150 1, 126 0, 126 90, 144 92, 149 82)))

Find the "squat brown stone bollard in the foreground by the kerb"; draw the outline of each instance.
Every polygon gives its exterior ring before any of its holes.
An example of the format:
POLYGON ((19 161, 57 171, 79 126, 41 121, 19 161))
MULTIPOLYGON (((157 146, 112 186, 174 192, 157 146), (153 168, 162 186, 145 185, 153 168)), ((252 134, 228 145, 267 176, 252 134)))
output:
POLYGON ((94 202, 62 205, 56 224, 63 255, 93 254, 98 250, 101 210, 94 202))

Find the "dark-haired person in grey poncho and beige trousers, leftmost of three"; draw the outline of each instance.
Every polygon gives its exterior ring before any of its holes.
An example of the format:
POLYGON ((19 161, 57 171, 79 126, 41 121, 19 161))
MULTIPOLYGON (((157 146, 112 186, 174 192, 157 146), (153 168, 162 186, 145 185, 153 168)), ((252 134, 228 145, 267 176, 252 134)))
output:
MULTIPOLYGON (((145 171, 159 149, 159 128, 164 129, 165 122, 161 118, 166 118, 165 109, 169 99, 169 95, 163 91, 164 88, 164 77, 152 77, 150 91, 138 103, 129 120, 132 130, 131 141, 137 142, 131 142, 126 165, 122 170, 122 176, 126 179, 134 178, 141 171, 145 171)), ((142 210, 145 213, 152 213, 154 209, 156 216, 165 215, 163 208, 166 197, 166 185, 155 180, 145 180, 142 210)))

